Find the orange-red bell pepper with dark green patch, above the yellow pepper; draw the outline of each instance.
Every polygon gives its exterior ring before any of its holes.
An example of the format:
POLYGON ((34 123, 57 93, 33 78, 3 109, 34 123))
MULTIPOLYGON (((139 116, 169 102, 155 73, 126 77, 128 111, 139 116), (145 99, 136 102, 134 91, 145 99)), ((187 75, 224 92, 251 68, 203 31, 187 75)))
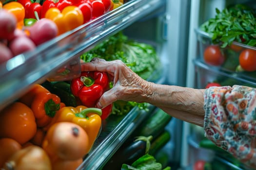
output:
POLYGON ((56 111, 65 106, 64 103, 60 102, 59 96, 52 94, 38 84, 34 85, 19 101, 31 107, 36 118, 37 127, 48 125, 56 111))

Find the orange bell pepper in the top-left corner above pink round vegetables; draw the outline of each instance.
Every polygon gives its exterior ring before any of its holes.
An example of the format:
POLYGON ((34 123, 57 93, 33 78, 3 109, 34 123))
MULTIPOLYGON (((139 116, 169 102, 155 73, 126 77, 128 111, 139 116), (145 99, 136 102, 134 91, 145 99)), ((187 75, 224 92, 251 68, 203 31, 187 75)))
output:
POLYGON ((11 1, 3 5, 3 9, 14 14, 17 19, 17 28, 22 29, 24 26, 25 8, 20 2, 11 1))

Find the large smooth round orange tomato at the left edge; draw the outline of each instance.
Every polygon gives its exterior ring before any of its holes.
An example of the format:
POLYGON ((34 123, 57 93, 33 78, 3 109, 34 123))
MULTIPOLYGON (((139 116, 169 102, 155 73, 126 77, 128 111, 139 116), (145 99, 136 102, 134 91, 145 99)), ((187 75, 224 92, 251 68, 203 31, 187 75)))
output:
POLYGON ((0 112, 0 137, 9 137, 21 145, 37 132, 33 111, 21 102, 14 102, 0 112))

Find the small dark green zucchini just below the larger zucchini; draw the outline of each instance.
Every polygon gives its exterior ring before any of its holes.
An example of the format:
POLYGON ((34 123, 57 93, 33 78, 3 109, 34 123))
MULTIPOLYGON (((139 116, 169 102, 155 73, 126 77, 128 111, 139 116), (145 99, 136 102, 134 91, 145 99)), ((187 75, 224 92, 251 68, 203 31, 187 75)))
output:
POLYGON ((161 133, 150 145, 149 154, 155 154, 171 139, 171 134, 168 131, 161 133))

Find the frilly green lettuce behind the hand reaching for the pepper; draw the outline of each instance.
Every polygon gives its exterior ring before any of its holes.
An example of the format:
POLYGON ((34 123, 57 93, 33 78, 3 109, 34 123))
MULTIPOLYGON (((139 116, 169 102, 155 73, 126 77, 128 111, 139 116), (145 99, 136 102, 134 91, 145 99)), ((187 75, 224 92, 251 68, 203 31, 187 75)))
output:
MULTIPOLYGON (((121 60, 143 79, 148 79, 161 66, 153 46, 128 39, 122 32, 80 56, 85 62, 90 62, 95 57, 106 61, 121 60)), ((113 103, 112 114, 123 115, 134 106, 147 110, 148 103, 117 101, 113 103)))

